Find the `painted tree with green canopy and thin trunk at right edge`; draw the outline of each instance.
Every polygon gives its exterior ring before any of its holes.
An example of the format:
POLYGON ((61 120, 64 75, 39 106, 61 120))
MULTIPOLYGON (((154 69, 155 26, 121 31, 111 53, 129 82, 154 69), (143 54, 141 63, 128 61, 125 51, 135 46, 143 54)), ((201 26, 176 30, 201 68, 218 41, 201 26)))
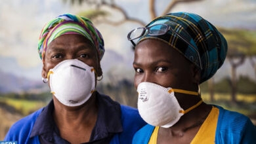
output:
POLYGON ((256 56, 256 31, 248 31, 243 29, 223 29, 220 28, 221 33, 228 41, 227 59, 231 65, 231 99, 236 103, 236 70, 245 62, 245 58, 256 56))

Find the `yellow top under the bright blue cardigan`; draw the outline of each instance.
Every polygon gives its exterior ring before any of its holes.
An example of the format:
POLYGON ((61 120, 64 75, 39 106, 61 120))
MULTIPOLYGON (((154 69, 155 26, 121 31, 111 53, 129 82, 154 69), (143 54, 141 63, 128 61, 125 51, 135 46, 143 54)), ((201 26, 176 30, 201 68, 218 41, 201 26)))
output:
MULTIPOLYGON (((191 141, 190 144, 196 144, 196 143, 215 143, 215 131, 217 128, 217 122, 219 117, 219 109, 217 107, 213 107, 203 122, 202 126, 198 130, 198 133, 194 137, 194 139, 191 141)), ((152 132, 152 135, 150 137, 150 141, 148 141, 148 144, 156 144, 158 140, 158 130, 159 126, 156 126, 154 131, 152 132)))

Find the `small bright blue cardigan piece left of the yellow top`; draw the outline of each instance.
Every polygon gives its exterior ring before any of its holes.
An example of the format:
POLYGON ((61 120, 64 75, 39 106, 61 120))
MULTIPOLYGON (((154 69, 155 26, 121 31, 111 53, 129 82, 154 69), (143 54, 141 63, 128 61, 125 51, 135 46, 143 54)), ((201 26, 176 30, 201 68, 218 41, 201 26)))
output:
POLYGON ((146 124, 133 136, 133 143, 148 143, 155 126, 146 124))

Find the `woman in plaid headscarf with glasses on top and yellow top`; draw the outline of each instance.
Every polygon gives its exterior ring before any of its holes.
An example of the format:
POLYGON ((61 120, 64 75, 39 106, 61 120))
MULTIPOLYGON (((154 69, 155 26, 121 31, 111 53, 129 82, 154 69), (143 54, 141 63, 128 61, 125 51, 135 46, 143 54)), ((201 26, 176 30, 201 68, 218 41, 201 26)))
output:
POLYGON ((148 123, 133 143, 256 143, 249 118, 200 96, 199 84, 213 77, 227 52, 212 24, 196 14, 171 13, 128 39, 135 45, 138 109, 148 123))

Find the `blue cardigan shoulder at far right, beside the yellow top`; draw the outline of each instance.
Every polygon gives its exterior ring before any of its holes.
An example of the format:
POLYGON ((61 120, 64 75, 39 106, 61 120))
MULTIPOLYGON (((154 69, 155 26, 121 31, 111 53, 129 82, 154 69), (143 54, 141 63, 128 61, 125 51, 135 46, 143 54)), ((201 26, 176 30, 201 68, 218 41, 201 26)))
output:
POLYGON ((232 141, 237 141, 238 143, 245 143, 245 141, 255 141, 256 142, 256 129, 253 126, 251 120, 234 111, 228 111, 219 107, 219 118, 217 123, 217 138, 223 139, 228 142, 230 139, 232 141))

